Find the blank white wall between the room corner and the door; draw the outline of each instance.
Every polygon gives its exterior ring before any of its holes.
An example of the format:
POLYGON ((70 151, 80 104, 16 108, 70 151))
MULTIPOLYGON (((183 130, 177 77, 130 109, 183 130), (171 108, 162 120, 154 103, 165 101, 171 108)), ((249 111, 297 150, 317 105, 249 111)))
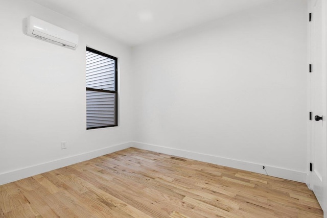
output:
POLYGON ((139 147, 287 169, 304 180, 307 22, 306 0, 277 0, 135 47, 139 147))

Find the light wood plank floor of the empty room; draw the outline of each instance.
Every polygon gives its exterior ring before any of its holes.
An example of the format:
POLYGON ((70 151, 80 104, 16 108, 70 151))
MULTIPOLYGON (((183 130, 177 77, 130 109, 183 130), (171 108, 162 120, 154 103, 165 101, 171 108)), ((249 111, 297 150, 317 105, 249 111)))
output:
POLYGON ((0 186, 0 217, 323 217, 306 184, 126 149, 0 186))

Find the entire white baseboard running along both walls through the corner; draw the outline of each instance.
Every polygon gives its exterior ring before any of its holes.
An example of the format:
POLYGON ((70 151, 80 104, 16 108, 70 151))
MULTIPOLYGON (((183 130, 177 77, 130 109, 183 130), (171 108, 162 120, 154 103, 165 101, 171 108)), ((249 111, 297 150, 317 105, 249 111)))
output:
MULTIPOLYGON (((88 153, 78 154, 74 156, 65 157, 62 159, 41 163, 38 165, 28 166, 25 168, 16 169, 15 171, 5 172, 0 174, 0 185, 13 182, 19 179, 24 179, 37 174, 52 171, 54 169, 79 163, 82 161, 90 160, 102 155, 110 154, 116 151, 124 150, 130 147, 145 149, 153 152, 164 153, 168 155, 174 155, 179 157, 190 158, 193 160, 199 160, 208 163, 214 163, 222 166, 228 166, 238 169, 244 169, 245 171, 265 174, 262 164, 244 162, 239 160, 233 160, 214 155, 195 153, 190 151, 184 151, 179 149, 155 146, 153 144, 146 144, 141 142, 127 142, 118 144, 116 146, 91 151, 88 153)), ((307 174, 304 172, 292 171, 291 169, 278 168, 274 166, 265 165, 266 171, 270 176, 289 179, 298 182, 306 182, 307 174)))

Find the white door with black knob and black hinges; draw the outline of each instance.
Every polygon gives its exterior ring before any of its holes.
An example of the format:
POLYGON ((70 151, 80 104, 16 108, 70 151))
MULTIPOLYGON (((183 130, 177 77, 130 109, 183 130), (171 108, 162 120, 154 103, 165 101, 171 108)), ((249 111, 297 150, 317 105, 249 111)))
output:
MULTIPOLYGON (((324 189, 325 189, 325 154, 326 144, 326 80, 325 80, 325 30, 323 25, 324 10, 322 7, 324 0, 312 0, 311 12, 312 20, 310 26, 310 62, 312 64, 311 72, 311 163, 312 171, 310 188, 314 191, 316 198, 324 208, 324 189), (322 118, 322 119, 321 119, 322 118)), ((325 217, 327 211, 324 211, 325 217)))

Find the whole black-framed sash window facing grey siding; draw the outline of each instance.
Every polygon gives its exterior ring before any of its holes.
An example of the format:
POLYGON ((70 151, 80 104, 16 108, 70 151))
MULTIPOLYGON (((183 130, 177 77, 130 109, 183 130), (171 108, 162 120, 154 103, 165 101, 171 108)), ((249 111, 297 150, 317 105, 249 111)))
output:
POLYGON ((86 47, 86 129, 118 126, 117 58, 86 47))

